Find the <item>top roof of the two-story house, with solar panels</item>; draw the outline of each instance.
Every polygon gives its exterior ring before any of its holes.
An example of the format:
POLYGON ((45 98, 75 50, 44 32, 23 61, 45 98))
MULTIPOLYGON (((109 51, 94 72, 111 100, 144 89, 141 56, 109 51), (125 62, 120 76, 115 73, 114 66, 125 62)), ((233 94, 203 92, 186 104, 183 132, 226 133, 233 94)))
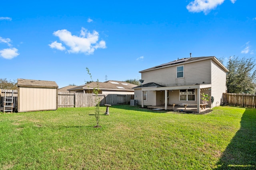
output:
POLYGON ((160 64, 158 66, 154 66, 154 67, 148 68, 146 70, 142 70, 142 71, 140 71, 140 73, 150 71, 150 70, 156 70, 159 68, 174 66, 174 65, 178 65, 178 64, 192 63, 192 62, 202 61, 202 60, 207 60, 207 59, 213 59, 219 66, 221 66, 226 72, 228 72, 228 69, 222 63, 220 63, 220 61, 218 61, 218 59, 216 59, 216 57, 210 56, 210 57, 190 57, 190 58, 178 59, 178 60, 171 61, 169 63, 160 64))

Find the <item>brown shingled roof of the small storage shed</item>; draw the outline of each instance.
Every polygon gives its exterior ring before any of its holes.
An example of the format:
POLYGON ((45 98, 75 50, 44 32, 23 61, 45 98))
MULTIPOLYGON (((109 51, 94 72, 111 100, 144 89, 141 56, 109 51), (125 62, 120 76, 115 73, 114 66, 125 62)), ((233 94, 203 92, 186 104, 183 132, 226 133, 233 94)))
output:
POLYGON ((22 79, 22 78, 18 78, 18 87, 19 86, 58 88, 58 85, 56 84, 56 82, 53 82, 53 81, 28 80, 28 79, 22 79))

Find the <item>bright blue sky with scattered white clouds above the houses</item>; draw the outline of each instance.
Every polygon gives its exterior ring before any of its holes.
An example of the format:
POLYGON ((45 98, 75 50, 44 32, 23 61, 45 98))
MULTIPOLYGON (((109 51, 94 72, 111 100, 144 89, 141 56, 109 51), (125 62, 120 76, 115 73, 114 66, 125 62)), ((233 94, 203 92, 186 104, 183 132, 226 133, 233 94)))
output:
POLYGON ((0 2, 0 78, 140 79, 178 58, 255 57, 255 0, 0 2), (106 77, 107 76, 107 77, 106 77))

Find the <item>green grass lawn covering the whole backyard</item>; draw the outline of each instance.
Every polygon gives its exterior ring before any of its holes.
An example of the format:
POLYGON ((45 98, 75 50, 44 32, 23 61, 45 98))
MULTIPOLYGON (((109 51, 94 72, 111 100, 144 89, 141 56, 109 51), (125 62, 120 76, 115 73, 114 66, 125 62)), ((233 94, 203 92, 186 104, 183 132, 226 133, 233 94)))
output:
POLYGON ((256 169, 256 109, 136 106, 0 114, 0 169, 256 169))

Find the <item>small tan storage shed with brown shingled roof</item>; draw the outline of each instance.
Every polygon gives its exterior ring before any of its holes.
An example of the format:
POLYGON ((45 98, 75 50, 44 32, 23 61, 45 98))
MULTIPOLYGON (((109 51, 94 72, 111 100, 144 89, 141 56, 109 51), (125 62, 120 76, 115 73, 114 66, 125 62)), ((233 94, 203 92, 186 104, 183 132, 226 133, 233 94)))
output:
POLYGON ((56 82, 18 78, 18 112, 56 109, 58 109, 56 82))

